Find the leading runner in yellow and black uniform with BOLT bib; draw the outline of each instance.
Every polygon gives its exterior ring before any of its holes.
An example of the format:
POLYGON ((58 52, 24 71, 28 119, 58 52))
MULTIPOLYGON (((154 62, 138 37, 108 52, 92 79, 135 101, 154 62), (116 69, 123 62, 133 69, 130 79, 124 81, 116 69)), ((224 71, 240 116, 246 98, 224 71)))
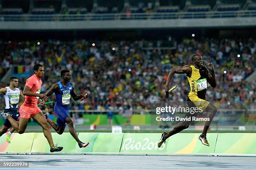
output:
MULTIPOLYGON (((166 95, 168 96, 169 84, 170 84, 170 81, 172 80, 172 76, 175 73, 187 74, 187 79, 189 80, 189 85, 190 85, 190 92, 187 97, 187 104, 189 105, 189 107, 197 107, 197 108, 201 108, 201 110, 206 110, 210 112, 208 117, 209 121, 205 122, 203 132, 199 136, 199 140, 202 142, 202 144, 210 146, 206 138, 206 133, 210 126, 210 123, 212 122, 212 119, 215 113, 217 112, 217 107, 205 100, 205 94, 207 90, 207 83, 209 83, 213 88, 216 87, 214 67, 212 63, 209 64, 210 70, 212 72, 212 75, 210 75, 209 70, 205 66, 203 66, 203 58, 200 54, 193 55, 192 62, 194 63, 194 65, 191 65, 191 66, 186 65, 184 67, 179 66, 179 67, 172 68, 166 80, 165 91, 166 91, 166 95)), ((192 117, 192 116, 195 117, 197 116, 197 113, 196 114, 189 113, 186 115, 186 117, 192 117)), ((161 139, 158 142, 158 147, 160 148, 161 145, 165 142, 165 140, 170 136, 176 133, 179 133, 184 129, 187 129, 191 122, 192 121, 179 122, 168 133, 163 132, 161 139)))

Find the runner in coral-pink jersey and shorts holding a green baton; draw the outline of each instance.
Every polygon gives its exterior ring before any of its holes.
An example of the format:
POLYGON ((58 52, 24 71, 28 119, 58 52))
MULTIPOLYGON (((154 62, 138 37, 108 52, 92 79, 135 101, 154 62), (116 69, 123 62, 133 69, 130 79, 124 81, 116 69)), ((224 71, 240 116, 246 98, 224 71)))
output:
POLYGON ((41 64, 34 65, 34 75, 29 77, 26 81, 26 85, 23 90, 23 95, 25 95, 25 102, 20 106, 20 122, 11 117, 10 113, 1 113, 5 119, 7 118, 13 128, 17 130, 19 134, 25 132, 26 127, 28 125, 28 120, 32 117, 39 125, 43 128, 44 136, 48 140, 50 145, 50 152, 59 152, 63 149, 63 147, 58 147, 54 145, 51 132, 48 128, 47 122, 43 115, 41 109, 37 106, 38 99, 41 98, 43 100, 48 100, 46 94, 40 94, 42 80, 41 78, 44 76, 44 67, 41 64))

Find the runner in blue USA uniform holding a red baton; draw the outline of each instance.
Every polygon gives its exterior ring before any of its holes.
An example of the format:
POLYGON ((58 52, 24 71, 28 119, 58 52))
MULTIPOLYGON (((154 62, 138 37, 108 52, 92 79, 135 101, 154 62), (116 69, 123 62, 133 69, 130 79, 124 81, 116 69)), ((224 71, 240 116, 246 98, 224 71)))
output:
MULTIPOLYGON (((88 94, 77 95, 74 90, 74 85, 70 82, 71 74, 69 70, 61 70, 61 81, 54 84, 49 90, 47 90, 46 95, 50 96, 53 93, 56 95, 56 102, 54 106, 54 112, 58 116, 57 124, 55 124, 52 120, 50 120, 45 114, 47 122, 51 125, 52 128, 58 133, 62 134, 66 127, 66 124, 69 126, 69 133, 73 136, 73 138, 77 141, 80 148, 84 148, 89 143, 81 142, 77 133, 74 129, 73 121, 69 117, 69 103, 70 98, 72 97, 74 100, 79 100, 82 98, 86 98, 88 94)), ((48 106, 49 108, 49 106, 48 106)), ((51 110, 49 108, 49 110, 51 110)))

